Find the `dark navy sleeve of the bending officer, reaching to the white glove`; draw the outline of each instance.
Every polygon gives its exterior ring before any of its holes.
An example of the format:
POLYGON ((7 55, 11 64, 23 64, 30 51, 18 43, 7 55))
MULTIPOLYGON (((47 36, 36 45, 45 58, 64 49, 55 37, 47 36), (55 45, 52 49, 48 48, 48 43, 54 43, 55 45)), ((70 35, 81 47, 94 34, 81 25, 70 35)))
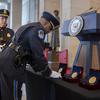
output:
POLYGON ((44 76, 49 76, 51 74, 51 69, 48 66, 48 63, 44 57, 43 46, 41 40, 36 34, 28 34, 29 46, 32 53, 33 69, 36 72, 42 72, 44 76))

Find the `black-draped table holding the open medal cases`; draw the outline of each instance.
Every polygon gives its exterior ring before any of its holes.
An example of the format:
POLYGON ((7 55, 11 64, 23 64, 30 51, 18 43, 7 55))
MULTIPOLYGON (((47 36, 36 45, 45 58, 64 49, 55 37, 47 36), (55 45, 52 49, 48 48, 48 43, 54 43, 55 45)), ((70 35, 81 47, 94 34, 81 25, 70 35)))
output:
POLYGON ((62 79, 44 78, 27 72, 28 100, 100 100, 100 90, 90 91, 62 79))

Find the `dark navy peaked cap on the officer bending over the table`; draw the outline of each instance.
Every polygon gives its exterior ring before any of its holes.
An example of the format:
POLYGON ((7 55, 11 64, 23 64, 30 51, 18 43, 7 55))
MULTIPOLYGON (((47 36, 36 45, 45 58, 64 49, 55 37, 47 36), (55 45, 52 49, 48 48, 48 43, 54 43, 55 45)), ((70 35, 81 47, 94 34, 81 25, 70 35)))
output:
POLYGON ((49 12, 44 11, 42 17, 50 22, 53 29, 59 27, 60 22, 52 14, 50 14, 49 12))

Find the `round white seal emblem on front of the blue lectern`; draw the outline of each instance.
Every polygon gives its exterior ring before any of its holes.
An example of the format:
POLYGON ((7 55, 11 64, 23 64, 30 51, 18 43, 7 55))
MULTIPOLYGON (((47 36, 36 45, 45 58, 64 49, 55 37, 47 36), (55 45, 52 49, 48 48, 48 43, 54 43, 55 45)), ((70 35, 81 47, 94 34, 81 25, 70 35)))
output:
POLYGON ((83 18, 81 16, 74 17, 69 23, 68 31, 71 36, 76 36, 83 28, 83 18))

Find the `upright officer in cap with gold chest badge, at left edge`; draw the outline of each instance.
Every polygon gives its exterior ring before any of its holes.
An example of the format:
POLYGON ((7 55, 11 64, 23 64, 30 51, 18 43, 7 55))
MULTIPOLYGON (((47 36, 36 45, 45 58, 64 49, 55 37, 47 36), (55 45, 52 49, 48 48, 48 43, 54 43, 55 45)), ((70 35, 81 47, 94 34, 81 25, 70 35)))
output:
POLYGON ((8 16, 8 10, 0 9, 0 50, 2 50, 2 48, 10 42, 12 36, 14 35, 14 31, 7 27, 8 16))

